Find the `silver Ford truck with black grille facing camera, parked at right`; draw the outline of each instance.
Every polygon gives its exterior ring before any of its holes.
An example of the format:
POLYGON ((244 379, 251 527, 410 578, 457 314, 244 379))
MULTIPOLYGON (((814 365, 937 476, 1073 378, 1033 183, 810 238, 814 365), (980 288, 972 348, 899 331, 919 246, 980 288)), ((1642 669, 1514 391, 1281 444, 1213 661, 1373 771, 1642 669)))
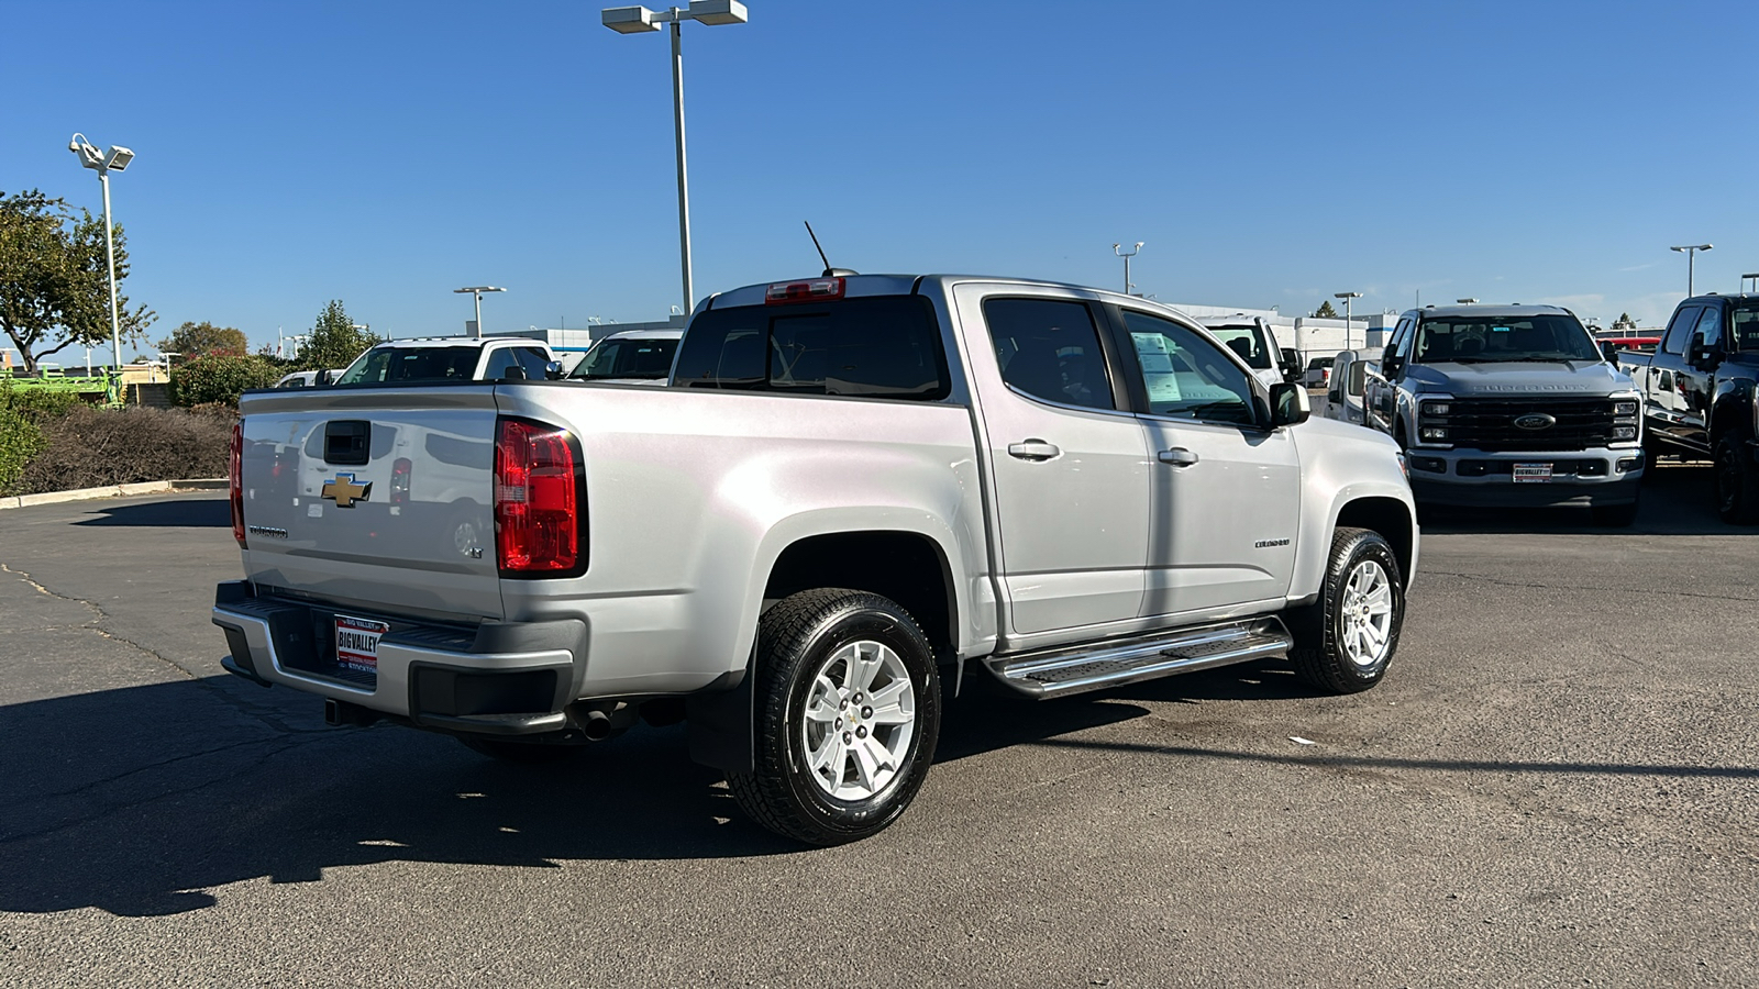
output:
POLYGON ((1418 503, 1636 519, 1638 392, 1569 310, 1411 310, 1369 373, 1363 410, 1405 449, 1418 503))

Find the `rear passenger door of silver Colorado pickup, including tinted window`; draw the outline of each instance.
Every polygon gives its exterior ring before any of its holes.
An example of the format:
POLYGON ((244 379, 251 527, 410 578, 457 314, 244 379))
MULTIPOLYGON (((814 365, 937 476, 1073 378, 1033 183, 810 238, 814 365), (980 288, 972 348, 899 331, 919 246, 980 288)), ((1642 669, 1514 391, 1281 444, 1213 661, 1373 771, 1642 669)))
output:
POLYGON ((1015 634, 1133 621, 1149 546, 1149 451, 1084 292, 959 285, 996 486, 1015 634))

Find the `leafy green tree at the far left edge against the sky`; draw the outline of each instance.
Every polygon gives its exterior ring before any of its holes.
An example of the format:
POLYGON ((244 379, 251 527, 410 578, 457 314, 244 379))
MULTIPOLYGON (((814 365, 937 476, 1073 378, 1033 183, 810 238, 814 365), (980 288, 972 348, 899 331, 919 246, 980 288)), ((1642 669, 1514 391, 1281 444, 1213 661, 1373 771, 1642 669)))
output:
MULTIPOLYGON (((128 246, 114 227, 118 324, 137 340, 158 319, 146 306, 128 308, 120 294, 128 278, 128 246)), ((109 269, 104 220, 39 190, 0 192, 0 329, 25 361, 25 371, 69 347, 99 347, 111 334, 109 269)))

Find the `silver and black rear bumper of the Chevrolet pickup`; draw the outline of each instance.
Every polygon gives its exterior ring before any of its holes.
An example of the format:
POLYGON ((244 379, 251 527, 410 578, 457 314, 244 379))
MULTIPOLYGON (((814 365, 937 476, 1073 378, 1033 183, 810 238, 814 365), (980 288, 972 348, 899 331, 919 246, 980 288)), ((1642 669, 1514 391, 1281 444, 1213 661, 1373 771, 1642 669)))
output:
POLYGON ((568 727, 566 706, 584 679, 584 621, 466 630, 390 618, 390 632, 378 642, 376 674, 359 674, 325 656, 324 628, 334 614, 315 604, 257 597, 246 581, 223 582, 213 609, 213 623, 230 649, 223 665, 264 686, 290 686, 424 729, 531 736, 568 727))

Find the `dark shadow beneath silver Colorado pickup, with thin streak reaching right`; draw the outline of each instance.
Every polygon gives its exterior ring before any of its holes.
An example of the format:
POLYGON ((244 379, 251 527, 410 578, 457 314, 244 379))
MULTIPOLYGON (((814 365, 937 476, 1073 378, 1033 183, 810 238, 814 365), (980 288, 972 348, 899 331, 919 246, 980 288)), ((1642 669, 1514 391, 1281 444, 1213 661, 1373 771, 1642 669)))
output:
MULTIPOLYGON (((1135 699, 1275 699, 1293 679, 1275 674, 1247 665, 1055 704, 973 692, 948 704, 938 762, 1034 744, 1337 762, 1082 737, 1149 714, 1135 699)), ((816 853, 746 820, 721 774, 690 762, 681 727, 637 729, 575 760, 524 767, 442 736, 325 729, 303 709, 232 695, 253 690, 208 678, 0 707, 0 912, 172 915, 215 906, 215 887, 324 882, 325 869, 382 862, 568 869, 610 859, 816 853)), ((1759 778, 1750 767, 1356 762, 1759 778)), ((911 813, 934 808, 918 801, 911 813)))

